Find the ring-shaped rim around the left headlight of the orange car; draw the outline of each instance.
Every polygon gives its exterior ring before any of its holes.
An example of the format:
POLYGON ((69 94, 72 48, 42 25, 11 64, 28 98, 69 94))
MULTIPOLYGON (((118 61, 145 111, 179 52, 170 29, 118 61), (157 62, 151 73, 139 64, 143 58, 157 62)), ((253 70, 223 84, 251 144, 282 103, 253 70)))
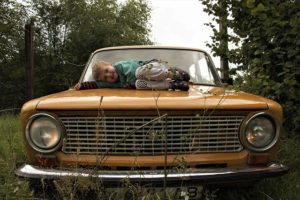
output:
POLYGON ((26 124, 26 130, 25 130, 25 135, 26 135, 26 140, 29 144, 29 146, 34 149, 35 151, 39 152, 39 153, 45 153, 45 154, 49 154, 49 153, 53 153, 55 151, 57 151, 61 146, 62 146, 62 142, 63 142, 63 136, 64 136, 65 130, 64 130, 64 126, 62 125, 61 121, 58 119, 58 117, 56 117, 53 114, 50 113, 36 113, 34 115, 32 115, 27 124, 26 124), (34 122, 34 120, 38 119, 39 117, 49 117, 51 119, 53 119, 57 125, 57 127, 60 129, 60 139, 57 142, 57 144, 55 144, 55 146, 51 147, 51 148, 41 148, 39 146, 37 146, 33 141, 32 138, 30 136, 30 127, 32 125, 32 123, 34 122))

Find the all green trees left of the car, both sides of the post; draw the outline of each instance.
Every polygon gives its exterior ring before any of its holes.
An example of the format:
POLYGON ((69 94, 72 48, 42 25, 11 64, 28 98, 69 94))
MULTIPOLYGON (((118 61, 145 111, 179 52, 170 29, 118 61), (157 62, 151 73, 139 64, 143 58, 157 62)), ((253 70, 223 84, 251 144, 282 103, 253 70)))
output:
POLYGON ((89 55, 116 45, 151 44, 144 0, 0 1, 0 109, 26 101, 24 26, 34 24, 34 96, 76 84, 89 55))

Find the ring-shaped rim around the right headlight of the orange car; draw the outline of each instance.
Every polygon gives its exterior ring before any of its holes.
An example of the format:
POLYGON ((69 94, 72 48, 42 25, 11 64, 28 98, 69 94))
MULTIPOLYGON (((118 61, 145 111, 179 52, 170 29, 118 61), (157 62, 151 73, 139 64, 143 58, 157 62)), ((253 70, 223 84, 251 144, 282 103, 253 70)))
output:
POLYGON ((262 111, 262 112, 253 113, 244 119, 244 121, 241 125, 241 128, 240 128, 240 131, 239 131, 239 137, 240 137, 241 143, 244 145, 244 147, 246 149, 251 150, 253 152, 265 152, 275 146, 275 144, 277 143, 277 141, 279 139, 280 132, 281 132, 281 125, 278 122, 278 120, 275 117, 273 117, 272 114, 270 114, 269 112, 262 111), (272 124, 274 125, 274 128, 275 128, 275 135, 274 135, 273 140, 264 147, 255 147, 250 142, 248 142, 248 140, 246 138, 246 128, 247 128, 249 122, 256 117, 268 118, 272 122, 272 124))

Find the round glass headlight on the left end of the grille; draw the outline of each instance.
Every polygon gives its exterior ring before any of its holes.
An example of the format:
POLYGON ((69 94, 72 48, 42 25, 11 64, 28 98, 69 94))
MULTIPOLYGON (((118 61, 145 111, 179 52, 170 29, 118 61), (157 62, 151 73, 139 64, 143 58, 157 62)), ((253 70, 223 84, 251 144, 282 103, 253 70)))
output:
POLYGON ((50 153, 60 146, 62 127, 53 116, 36 114, 27 124, 26 137, 33 149, 41 153, 50 153))

